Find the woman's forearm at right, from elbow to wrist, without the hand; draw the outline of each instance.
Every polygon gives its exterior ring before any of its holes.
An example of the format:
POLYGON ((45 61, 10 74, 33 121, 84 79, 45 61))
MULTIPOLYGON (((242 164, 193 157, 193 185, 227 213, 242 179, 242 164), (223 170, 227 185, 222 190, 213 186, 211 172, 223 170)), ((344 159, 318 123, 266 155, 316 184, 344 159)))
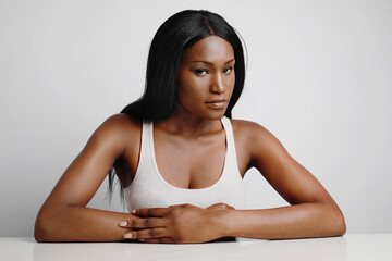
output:
POLYGON ((345 222, 339 209, 302 203, 265 210, 226 210, 217 215, 222 236, 289 239, 341 236, 345 222))

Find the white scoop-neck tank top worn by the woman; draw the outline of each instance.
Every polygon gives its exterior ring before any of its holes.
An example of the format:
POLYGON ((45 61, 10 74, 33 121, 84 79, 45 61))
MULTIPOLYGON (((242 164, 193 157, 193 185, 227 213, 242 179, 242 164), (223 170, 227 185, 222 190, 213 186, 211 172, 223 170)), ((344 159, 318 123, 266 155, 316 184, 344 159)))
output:
POLYGON ((226 203, 235 209, 245 209, 244 184, 237 166, 233 129, 228 117, 222 117, 221 122, 226 134, 223 171, 217 183, 199 189, 179 188, 164 181, 155 157, 152 123, 144 122, 137 171, 131 185, 124 188, 128 210, 183 203, 200 208, 226 203))

